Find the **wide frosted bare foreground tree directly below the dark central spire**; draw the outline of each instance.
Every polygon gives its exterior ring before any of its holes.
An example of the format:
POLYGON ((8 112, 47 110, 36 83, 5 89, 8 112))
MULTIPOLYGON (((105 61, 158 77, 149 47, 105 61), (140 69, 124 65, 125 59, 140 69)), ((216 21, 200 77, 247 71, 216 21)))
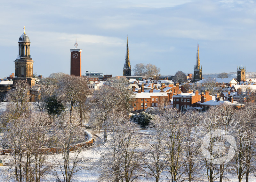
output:
POLYGON ((135 181, 141 175, 144 159, 143 137, 125 113, 111 112, 106 120, 108 142, 97 150, 100 154, 99 181, 135 181), (103 148, 103 149, 102 149, 103 148))

